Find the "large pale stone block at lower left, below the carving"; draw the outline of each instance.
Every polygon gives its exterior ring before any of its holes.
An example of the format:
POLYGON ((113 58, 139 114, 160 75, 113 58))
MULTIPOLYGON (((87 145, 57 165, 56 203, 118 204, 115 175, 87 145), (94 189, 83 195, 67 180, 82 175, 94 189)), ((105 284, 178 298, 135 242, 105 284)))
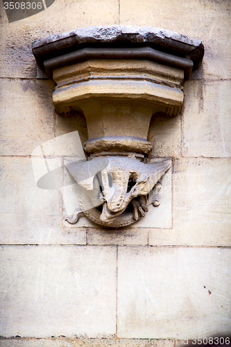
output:
POLYGON ((0 253, 2 336, 115 333, 114 247, 8 246, 0 253))

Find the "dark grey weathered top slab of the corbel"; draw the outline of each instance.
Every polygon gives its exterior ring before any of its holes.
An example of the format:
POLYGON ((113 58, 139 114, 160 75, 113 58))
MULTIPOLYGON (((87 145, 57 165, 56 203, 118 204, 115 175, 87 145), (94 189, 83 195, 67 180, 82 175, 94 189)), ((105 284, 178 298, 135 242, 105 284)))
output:
MULTIPOLYGON (((173 56, 191 60, 194 69, 203 59, 204 46, 200 40, 173 31, 153 26, 87 26, 67 33, 49 35, 32 44, 38 65, 44 69, 44 62, 72 54, 86 47, 97 47, 101 52, 106 47, 150 46, 173 56)), ((96 49, 96 48, 93 48, 96 49)), ((70 60, 70 59, 69 59, 70 60)), ((56 63, 56 62, 55 62, 56 63)))

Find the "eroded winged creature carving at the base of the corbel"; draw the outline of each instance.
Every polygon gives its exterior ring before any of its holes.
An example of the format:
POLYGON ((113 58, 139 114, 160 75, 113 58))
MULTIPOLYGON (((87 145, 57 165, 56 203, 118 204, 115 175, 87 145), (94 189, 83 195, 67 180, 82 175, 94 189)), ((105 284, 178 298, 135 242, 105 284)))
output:
MULTIPOLYGON (((78 200, 85 216, 102 226, 126 226, 145 216, 148 205, 159 205, 158 181, 171 167, 171 160, 144 163, 136 158, 111 155, 89 162, 65 160, 65 167, 78 183, 78 200)), ((83 214, 74 219, 75 223, 83 214)))

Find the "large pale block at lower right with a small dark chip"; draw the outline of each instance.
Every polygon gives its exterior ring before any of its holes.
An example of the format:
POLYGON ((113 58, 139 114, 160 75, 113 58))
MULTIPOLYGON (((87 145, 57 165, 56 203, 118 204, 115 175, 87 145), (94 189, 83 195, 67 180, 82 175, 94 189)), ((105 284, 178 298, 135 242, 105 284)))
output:
POLYGON ((119 247, 118 337, 230 331, 230 260, 229 248, 119 247))

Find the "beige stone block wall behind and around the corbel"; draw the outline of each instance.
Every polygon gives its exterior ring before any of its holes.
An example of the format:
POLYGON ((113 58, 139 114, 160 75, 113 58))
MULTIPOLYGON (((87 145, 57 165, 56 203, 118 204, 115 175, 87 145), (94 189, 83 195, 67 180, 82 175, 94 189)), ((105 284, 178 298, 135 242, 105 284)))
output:
POLYGON ((0 6, 0 346, 180 346, 228 332, 230 1, 55 0, 10 24, 0 6), (205 45, 181 114, 151 121, 152 156, 173 158, 164 228, 69 226, 60 191, 38 188, 33 176, 35 147, 74 130, 84 142, 87 133, 81 115, 55 113, 53 83, 37 79, 31 44, 106 24, 160 26, 205 45))

